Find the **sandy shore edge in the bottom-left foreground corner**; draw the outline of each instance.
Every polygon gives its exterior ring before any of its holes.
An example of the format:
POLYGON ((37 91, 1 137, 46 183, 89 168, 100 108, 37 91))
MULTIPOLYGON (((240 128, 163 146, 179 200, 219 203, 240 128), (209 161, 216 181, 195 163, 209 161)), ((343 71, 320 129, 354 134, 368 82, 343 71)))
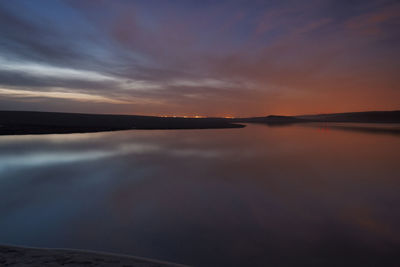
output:
POLYGON ((0 246, 0 266, 160 267, 184 265, 91 251, 0 246))

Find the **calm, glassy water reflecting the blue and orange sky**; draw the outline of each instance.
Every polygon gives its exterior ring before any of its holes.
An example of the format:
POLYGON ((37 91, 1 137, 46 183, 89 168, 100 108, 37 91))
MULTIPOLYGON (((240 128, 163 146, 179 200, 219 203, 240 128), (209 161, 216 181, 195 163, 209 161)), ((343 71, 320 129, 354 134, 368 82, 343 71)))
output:
POLYGON ((400 136, 319 126, 0 137, 0 243, 196 266, 400 266, 400 136))

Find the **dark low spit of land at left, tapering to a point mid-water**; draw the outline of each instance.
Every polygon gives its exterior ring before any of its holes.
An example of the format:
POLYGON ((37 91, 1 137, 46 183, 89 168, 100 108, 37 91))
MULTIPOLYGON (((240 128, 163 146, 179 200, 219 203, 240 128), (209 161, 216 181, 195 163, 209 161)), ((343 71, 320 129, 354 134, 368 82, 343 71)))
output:
POLYGON ((242 128, 222 118, 173 118, 56 112, 0 111, 0 135, 87 133, 131 129, 242 128))

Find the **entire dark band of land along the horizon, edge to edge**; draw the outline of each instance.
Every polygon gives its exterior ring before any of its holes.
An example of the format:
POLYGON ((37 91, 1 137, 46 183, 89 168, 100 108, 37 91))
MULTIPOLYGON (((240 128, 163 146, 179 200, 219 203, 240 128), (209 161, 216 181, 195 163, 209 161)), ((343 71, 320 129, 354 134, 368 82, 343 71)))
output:
MULTIPOLYGON (((57 112, 0 111, 0 135, 88 133, 117 130, 242 128, 240 123, 282 126, 310 122, 400 123, 400 111, 367 111, 251 118, 183 118, 57 112)), ((343 126, 341 126, 343 128, 343 126)), ((360 131, 365 131, 366 128, 360 131)), ((382 131, 369 129, 371 131, 382 131)), ((397 133, 397 130, 390 130, 397 133)))

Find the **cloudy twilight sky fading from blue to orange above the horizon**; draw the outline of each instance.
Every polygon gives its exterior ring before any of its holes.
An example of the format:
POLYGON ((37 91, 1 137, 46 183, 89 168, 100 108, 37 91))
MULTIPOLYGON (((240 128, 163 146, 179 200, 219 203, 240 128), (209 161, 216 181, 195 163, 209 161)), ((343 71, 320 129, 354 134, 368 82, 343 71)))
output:
POLYGON ((0 1, 0 110, 400 109, 400 1, 0 1))

